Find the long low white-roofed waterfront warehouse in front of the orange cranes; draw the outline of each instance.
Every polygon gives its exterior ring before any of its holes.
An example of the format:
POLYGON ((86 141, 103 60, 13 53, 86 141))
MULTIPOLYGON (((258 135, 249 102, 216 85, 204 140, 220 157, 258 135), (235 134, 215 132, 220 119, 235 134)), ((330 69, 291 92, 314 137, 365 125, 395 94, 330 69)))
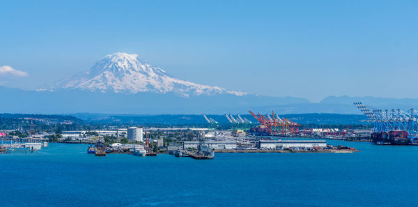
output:
POLYGON ((257 148, 313 148, 326 147, 325 140, 260 140, 257 142, 257 148))

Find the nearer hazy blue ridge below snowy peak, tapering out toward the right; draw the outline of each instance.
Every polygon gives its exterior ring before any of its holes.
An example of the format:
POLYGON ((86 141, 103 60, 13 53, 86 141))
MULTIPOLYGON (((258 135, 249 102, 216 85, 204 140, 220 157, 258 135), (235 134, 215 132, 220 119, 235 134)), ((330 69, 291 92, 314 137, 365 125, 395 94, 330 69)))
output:
POLYGON ((0 86, 7 101, 0 110, 7 113, 72 114, 79 112, 111 114, 223 114, 247 112, 254 107, 309 103, 304 98, 262 95, 190 95, 142 92, 102 93, 80 89, 22 91, 0 86))

